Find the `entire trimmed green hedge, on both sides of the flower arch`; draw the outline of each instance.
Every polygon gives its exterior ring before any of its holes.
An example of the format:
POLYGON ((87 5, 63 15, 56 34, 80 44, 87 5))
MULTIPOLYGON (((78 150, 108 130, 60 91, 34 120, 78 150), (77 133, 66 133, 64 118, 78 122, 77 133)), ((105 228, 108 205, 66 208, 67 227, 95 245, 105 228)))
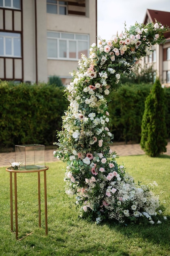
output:
MULTIPOLYGON (((110 95, 114 141, 140 142, 144 102, 151 88, 150 84, 124 84, 110 95)), ((170 138, 170 88, 164 88, 164 92, 170 138)), ((17 144, 52 145, 67 108, 61 88, 45 83, 16 85, 0 81, 0 149, 17 144)))

